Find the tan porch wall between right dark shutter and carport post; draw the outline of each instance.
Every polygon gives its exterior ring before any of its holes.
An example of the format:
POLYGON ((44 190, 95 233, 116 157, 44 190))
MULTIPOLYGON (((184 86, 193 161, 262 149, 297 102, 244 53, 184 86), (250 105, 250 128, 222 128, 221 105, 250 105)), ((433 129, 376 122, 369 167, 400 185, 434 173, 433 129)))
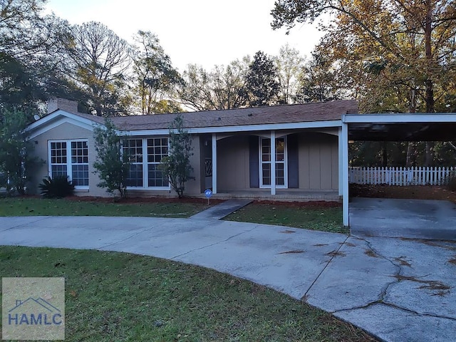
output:
POLYGON ((299 188, 338 189, 337 135, 299 134, 299 188))

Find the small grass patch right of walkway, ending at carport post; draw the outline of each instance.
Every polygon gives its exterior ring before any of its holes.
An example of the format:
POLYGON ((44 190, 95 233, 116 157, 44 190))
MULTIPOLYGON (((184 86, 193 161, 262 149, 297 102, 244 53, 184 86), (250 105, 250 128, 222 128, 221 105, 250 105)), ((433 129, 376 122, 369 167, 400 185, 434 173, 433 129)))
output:
POLYGON ((277 224, 323 232, 343 234, 350 232, 342 224, 342 207, 338 203, 331 202, 253 202, 224 219, 277 224))

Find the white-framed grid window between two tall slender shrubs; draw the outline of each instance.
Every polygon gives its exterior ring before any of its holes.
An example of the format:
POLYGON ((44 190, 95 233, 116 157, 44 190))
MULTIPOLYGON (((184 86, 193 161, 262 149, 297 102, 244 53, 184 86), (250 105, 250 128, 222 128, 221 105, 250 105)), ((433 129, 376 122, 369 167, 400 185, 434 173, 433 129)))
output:
POLYGON ((168 138, 125 139, 123 153, 128 153, 131 162, 127 186, 169 189, 167 178, 158 170, 168 151, 168 138))

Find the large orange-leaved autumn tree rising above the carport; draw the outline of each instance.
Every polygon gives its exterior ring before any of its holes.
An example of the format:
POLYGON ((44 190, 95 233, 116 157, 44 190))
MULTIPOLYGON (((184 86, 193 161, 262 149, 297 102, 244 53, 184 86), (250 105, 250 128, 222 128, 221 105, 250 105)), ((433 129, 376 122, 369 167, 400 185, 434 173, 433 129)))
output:
MULTIPOLYGON (((452 108, 456 1, 278 0, 272 27, 291 29, 324 13, 333 19, 320 48, 350 80, 361 110, 434 113, 452 108)), ((409 148, 407 155, 414 154, 409 148)), ((425 165, 432 165, 432 142, 426 143, 425 155, 425 165)))

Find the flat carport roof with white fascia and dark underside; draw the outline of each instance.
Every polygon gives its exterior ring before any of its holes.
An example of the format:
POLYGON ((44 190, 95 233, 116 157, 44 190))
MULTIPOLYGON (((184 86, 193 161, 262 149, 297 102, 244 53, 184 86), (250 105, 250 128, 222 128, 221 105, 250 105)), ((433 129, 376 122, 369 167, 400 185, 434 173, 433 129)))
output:
POLYGON ((350 140, 456 140, 456 113, 347 114, 342 121, 350 140))

